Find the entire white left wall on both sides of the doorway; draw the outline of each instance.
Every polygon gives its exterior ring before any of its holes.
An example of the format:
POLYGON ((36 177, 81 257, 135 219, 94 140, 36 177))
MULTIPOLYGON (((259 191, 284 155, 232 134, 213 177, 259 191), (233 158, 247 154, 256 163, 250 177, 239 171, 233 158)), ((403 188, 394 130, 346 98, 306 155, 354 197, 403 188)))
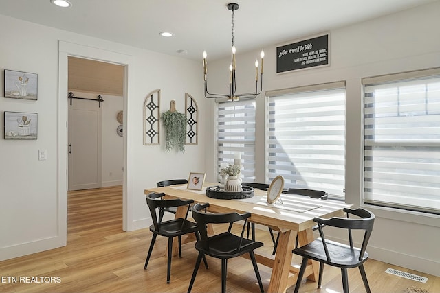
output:
MULTIPOLYGON (((204 169, 203 136, 199 145, 186 146, 185 154, 164 151, 161 145, 143 145, 145 96, 162 89, 162 109, 170 100, 184 112, 185 93, 197 100, 203 113, 199 62, 166 56, 90 38, 50 27, 0 16, 0 69, 39 75, 39 100, 0 97, 0 111, 39 113, 39 139, 0 139, 0 260, 63 246, 67 239, 67 55, 109 60, 125 56, 127 98, 124 104, 124 215, 126 230, 145 227, 149 220, 144 189, 158 180, 186 178, 190 171, 204 169), (11 45, 14 44, 14 45, 11 45), (60 51, 61 48, 62 50, 60 51), (79 49, 78 49, 79 48, 79 49), (98 54, 97 54, 98 52, 98 54), (58 78, 58 73, 63 74, 58 78), (60 82, 58 82, 60 80, 60 82), (60 92, 58 93, 58 88, 60 92), (65 92, 61 91, 65 90, 65 92), (58 110, 59 109, 59 110, 58 110), (58 144, 59 142, 59 144, 58 144), (38 150, 47 150, 47 160, 38 160, 38 150), (60 168, 58 170, 58 167, 60 168)), ((3 95, 3 83, 0 95, 3 95)), ((201 117, 199 132, 205 131, 201 117)), ((3 129, 3 119, 0 119, 3 129)), ((163 128, 162 128, 163 129, 163 128)))

